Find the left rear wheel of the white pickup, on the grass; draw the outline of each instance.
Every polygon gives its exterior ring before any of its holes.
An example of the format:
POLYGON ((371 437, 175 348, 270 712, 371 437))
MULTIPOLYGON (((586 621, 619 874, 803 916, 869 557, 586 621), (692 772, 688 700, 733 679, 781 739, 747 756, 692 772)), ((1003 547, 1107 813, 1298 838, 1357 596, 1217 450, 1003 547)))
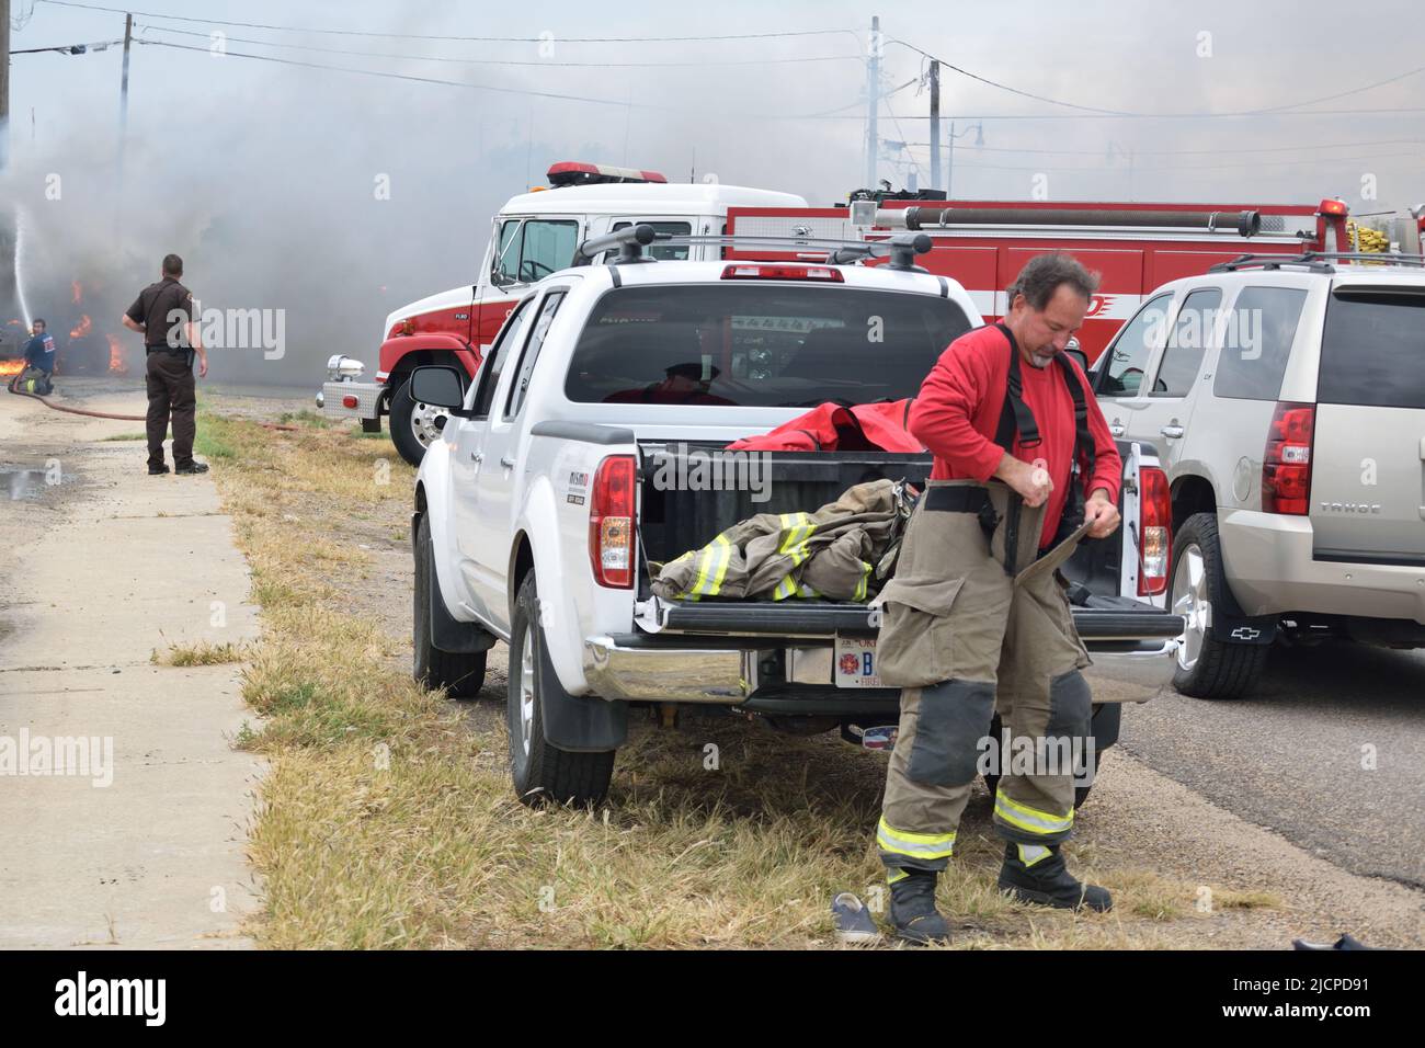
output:
POLYGON ((506 721, 510 736, 510 779, 522 803, 546 801, 576 806, 598 804, 608 796, 616 750, 560 750, 544 737, 544 689, 559 687, 550 680, 554 667, 544 650, 544 630, 539 625, 539 593, 534 572, 520 583, 510 629, 510 693, 506 721))

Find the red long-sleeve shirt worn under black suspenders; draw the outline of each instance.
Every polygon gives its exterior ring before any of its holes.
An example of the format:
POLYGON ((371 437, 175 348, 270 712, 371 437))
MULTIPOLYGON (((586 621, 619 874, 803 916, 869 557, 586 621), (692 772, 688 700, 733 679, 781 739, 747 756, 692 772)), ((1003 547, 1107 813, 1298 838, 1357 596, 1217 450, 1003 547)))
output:
MULTIPOLYGON (((1009 339, 998 327, 983 327, 960 335, 946 346, 931 368, 911 409, 911 432, 935 455, 932 481, 988 481, 1003 451, 995 443, 999 413, 1009 386, 1009 339)), ((1117 500, 1123 461, 1109 433, 1109 423, 1089 389, 1089 379, 1070 358, 1089 402, 1089 432, 1096 458, 1084 493, 1106 488, 1117 500)), ((1035 413, 1043 443, 1022 445, 1015 435, 1015 458, 1033 463, 1043 459, 1054 489, 1045 512, 1043 545, 1053 542, 1069 498, 1069 468, 1073 461, 1073 395, 1059 365, 1035 368, 1020 359, 1019 374, 1025 404, 1035 413)), ((1080 462, 1086 468, 1087 462, 1080 462)))

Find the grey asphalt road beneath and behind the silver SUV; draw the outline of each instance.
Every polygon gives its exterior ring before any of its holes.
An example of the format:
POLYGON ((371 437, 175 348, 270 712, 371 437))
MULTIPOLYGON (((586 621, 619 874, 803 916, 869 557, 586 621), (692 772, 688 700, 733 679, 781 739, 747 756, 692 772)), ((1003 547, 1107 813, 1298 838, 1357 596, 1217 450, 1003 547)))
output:
MULTIPOLYGON (((1097 656, 1089 673, 1137 694, 1170 679, 1166 659, 1097 656)), ((1274 649, 1244 699, 1167 686, 1130 704, 1119 744, 1337 865, 1425 887, 1425 652, 1274 649)))

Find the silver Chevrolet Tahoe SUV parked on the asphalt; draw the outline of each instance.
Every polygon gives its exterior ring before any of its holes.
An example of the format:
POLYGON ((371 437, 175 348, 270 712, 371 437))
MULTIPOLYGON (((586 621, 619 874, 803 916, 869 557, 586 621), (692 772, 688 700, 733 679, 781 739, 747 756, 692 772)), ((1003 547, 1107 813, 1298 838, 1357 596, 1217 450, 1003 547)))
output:
POLYGON ((1425 647, 1421 258, 1243 257, 1166 284, 1093 384, 1167 471, 1180 692, 1241 694, 1277 640, 1425 647))

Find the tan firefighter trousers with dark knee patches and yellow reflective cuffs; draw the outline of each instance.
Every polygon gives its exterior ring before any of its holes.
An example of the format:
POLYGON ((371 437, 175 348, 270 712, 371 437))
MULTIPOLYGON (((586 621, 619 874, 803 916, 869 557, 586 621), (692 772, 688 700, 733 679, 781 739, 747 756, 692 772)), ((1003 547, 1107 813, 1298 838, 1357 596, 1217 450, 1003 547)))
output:
MULTIPOLYGON (((1019 585, 1005 572, 1009 489, 931 482, 942 485, 988 488, 1000 520, 988 538, 978 515, 932 510, 922 499, 882 590, 876 660, 881 679, 903 689, 876 830, 892 883, 908 867, 945 868, 980 756, 990 741, 1002 753, 1000 740, 989 739, 996 710, 1010 754, 1033 760, 992 769, 1000 771, 995 828, 1036 851, 1073 828, 1073 759, 1092 734, 1092 697, 1079 673, 1090 659, 1057 572, 1037 570, 1019 585)), ((1035 563, 1043 512, 1020 510, 1020 569, 1035 563)))

